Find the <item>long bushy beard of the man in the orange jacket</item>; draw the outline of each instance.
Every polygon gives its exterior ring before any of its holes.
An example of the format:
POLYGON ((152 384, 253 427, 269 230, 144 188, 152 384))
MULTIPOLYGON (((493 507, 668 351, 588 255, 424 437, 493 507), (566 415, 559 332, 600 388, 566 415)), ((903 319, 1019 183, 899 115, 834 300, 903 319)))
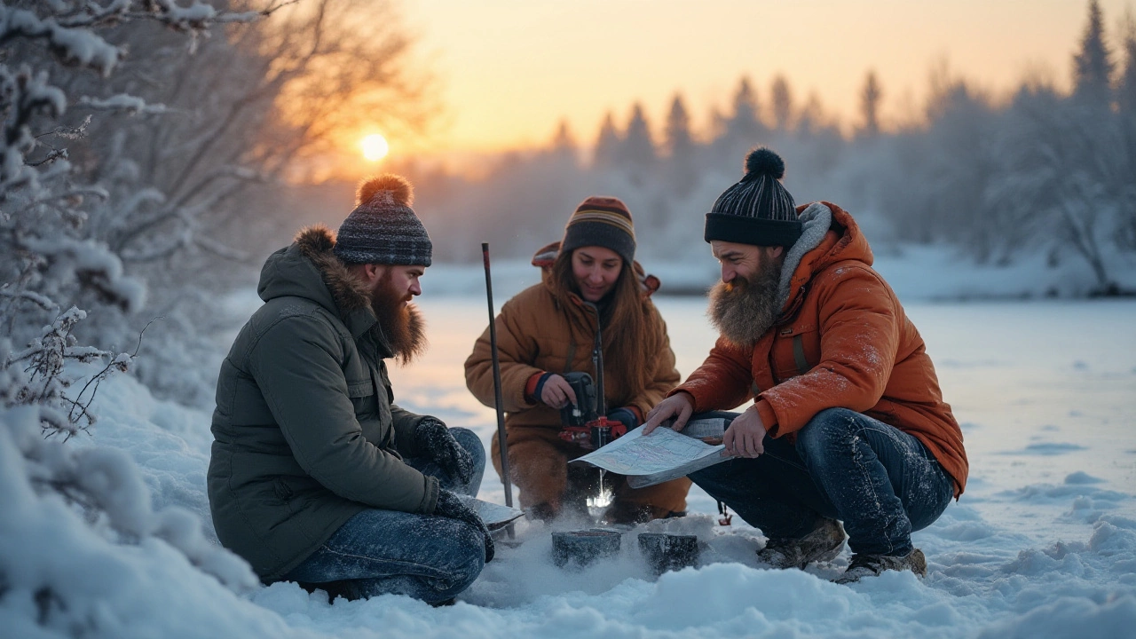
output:
POLYGON ((780 265, 762 259, 760 266, 752 282, 735 276, 710 289, 710 308, 707 309, 710 323, 735 346, 752 347, 780 314, 777 306, 780 265))

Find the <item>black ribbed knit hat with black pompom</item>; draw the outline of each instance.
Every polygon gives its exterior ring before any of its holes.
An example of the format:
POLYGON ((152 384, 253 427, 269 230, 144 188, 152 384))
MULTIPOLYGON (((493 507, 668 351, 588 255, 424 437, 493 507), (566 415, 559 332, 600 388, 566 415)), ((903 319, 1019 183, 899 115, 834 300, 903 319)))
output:
POLYGON ((707 214, 705 241, 792 247, 801 236, 793 196, 782 186, 785 163, 761 147, 745 158, 742 181, 726 189, 707 214))

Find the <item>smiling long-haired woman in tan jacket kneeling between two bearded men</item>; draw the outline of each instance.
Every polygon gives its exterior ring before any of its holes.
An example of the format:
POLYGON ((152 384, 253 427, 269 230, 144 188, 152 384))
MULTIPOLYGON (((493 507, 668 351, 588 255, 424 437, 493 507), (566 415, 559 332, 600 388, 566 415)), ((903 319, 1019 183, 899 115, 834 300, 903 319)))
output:
MULTIPOLYGON (((543 281, 506 302, 498 316, 509 468, 520 489, 520 505, 537 518, 552 520, 566 509, 586 515, 587 498, 599 488, 596 468, 568 465, 588 450, 560 438, 560 408, 576 399, 563 375, 586 372, 596 377, 592 351, 598 323, 610 420, 636 428, 678 383, 667 326, 650 299, 659 280, 645 276, 634 256, 635 229, 626 205, 616 198, 587 198, 568 221, 563 241, 533 257, 543 281)), ((466 359, 466 385, 493 406, 488 329, 466 359)), ((496 438, 492 457, 501 473, 496 438)), ((601 517, 609 523, 685 513, 691 486, 685 478, 638 490, 621 475, 609 473, 604 481, 613 495, 601 517)))

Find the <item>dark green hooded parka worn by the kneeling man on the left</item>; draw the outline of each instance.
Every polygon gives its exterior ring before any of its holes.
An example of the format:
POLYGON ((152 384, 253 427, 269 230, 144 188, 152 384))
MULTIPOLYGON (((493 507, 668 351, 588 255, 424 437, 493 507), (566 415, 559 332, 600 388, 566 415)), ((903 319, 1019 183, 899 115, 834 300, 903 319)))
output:
POLYGON ((217 381, 209 506, 220 542, 265 580, 286 574, 366 508, 431 514, 437 480, 416 456, 423 418, 392 404, 392 352, 324 227, 260 273, 265 305, 217 381))

